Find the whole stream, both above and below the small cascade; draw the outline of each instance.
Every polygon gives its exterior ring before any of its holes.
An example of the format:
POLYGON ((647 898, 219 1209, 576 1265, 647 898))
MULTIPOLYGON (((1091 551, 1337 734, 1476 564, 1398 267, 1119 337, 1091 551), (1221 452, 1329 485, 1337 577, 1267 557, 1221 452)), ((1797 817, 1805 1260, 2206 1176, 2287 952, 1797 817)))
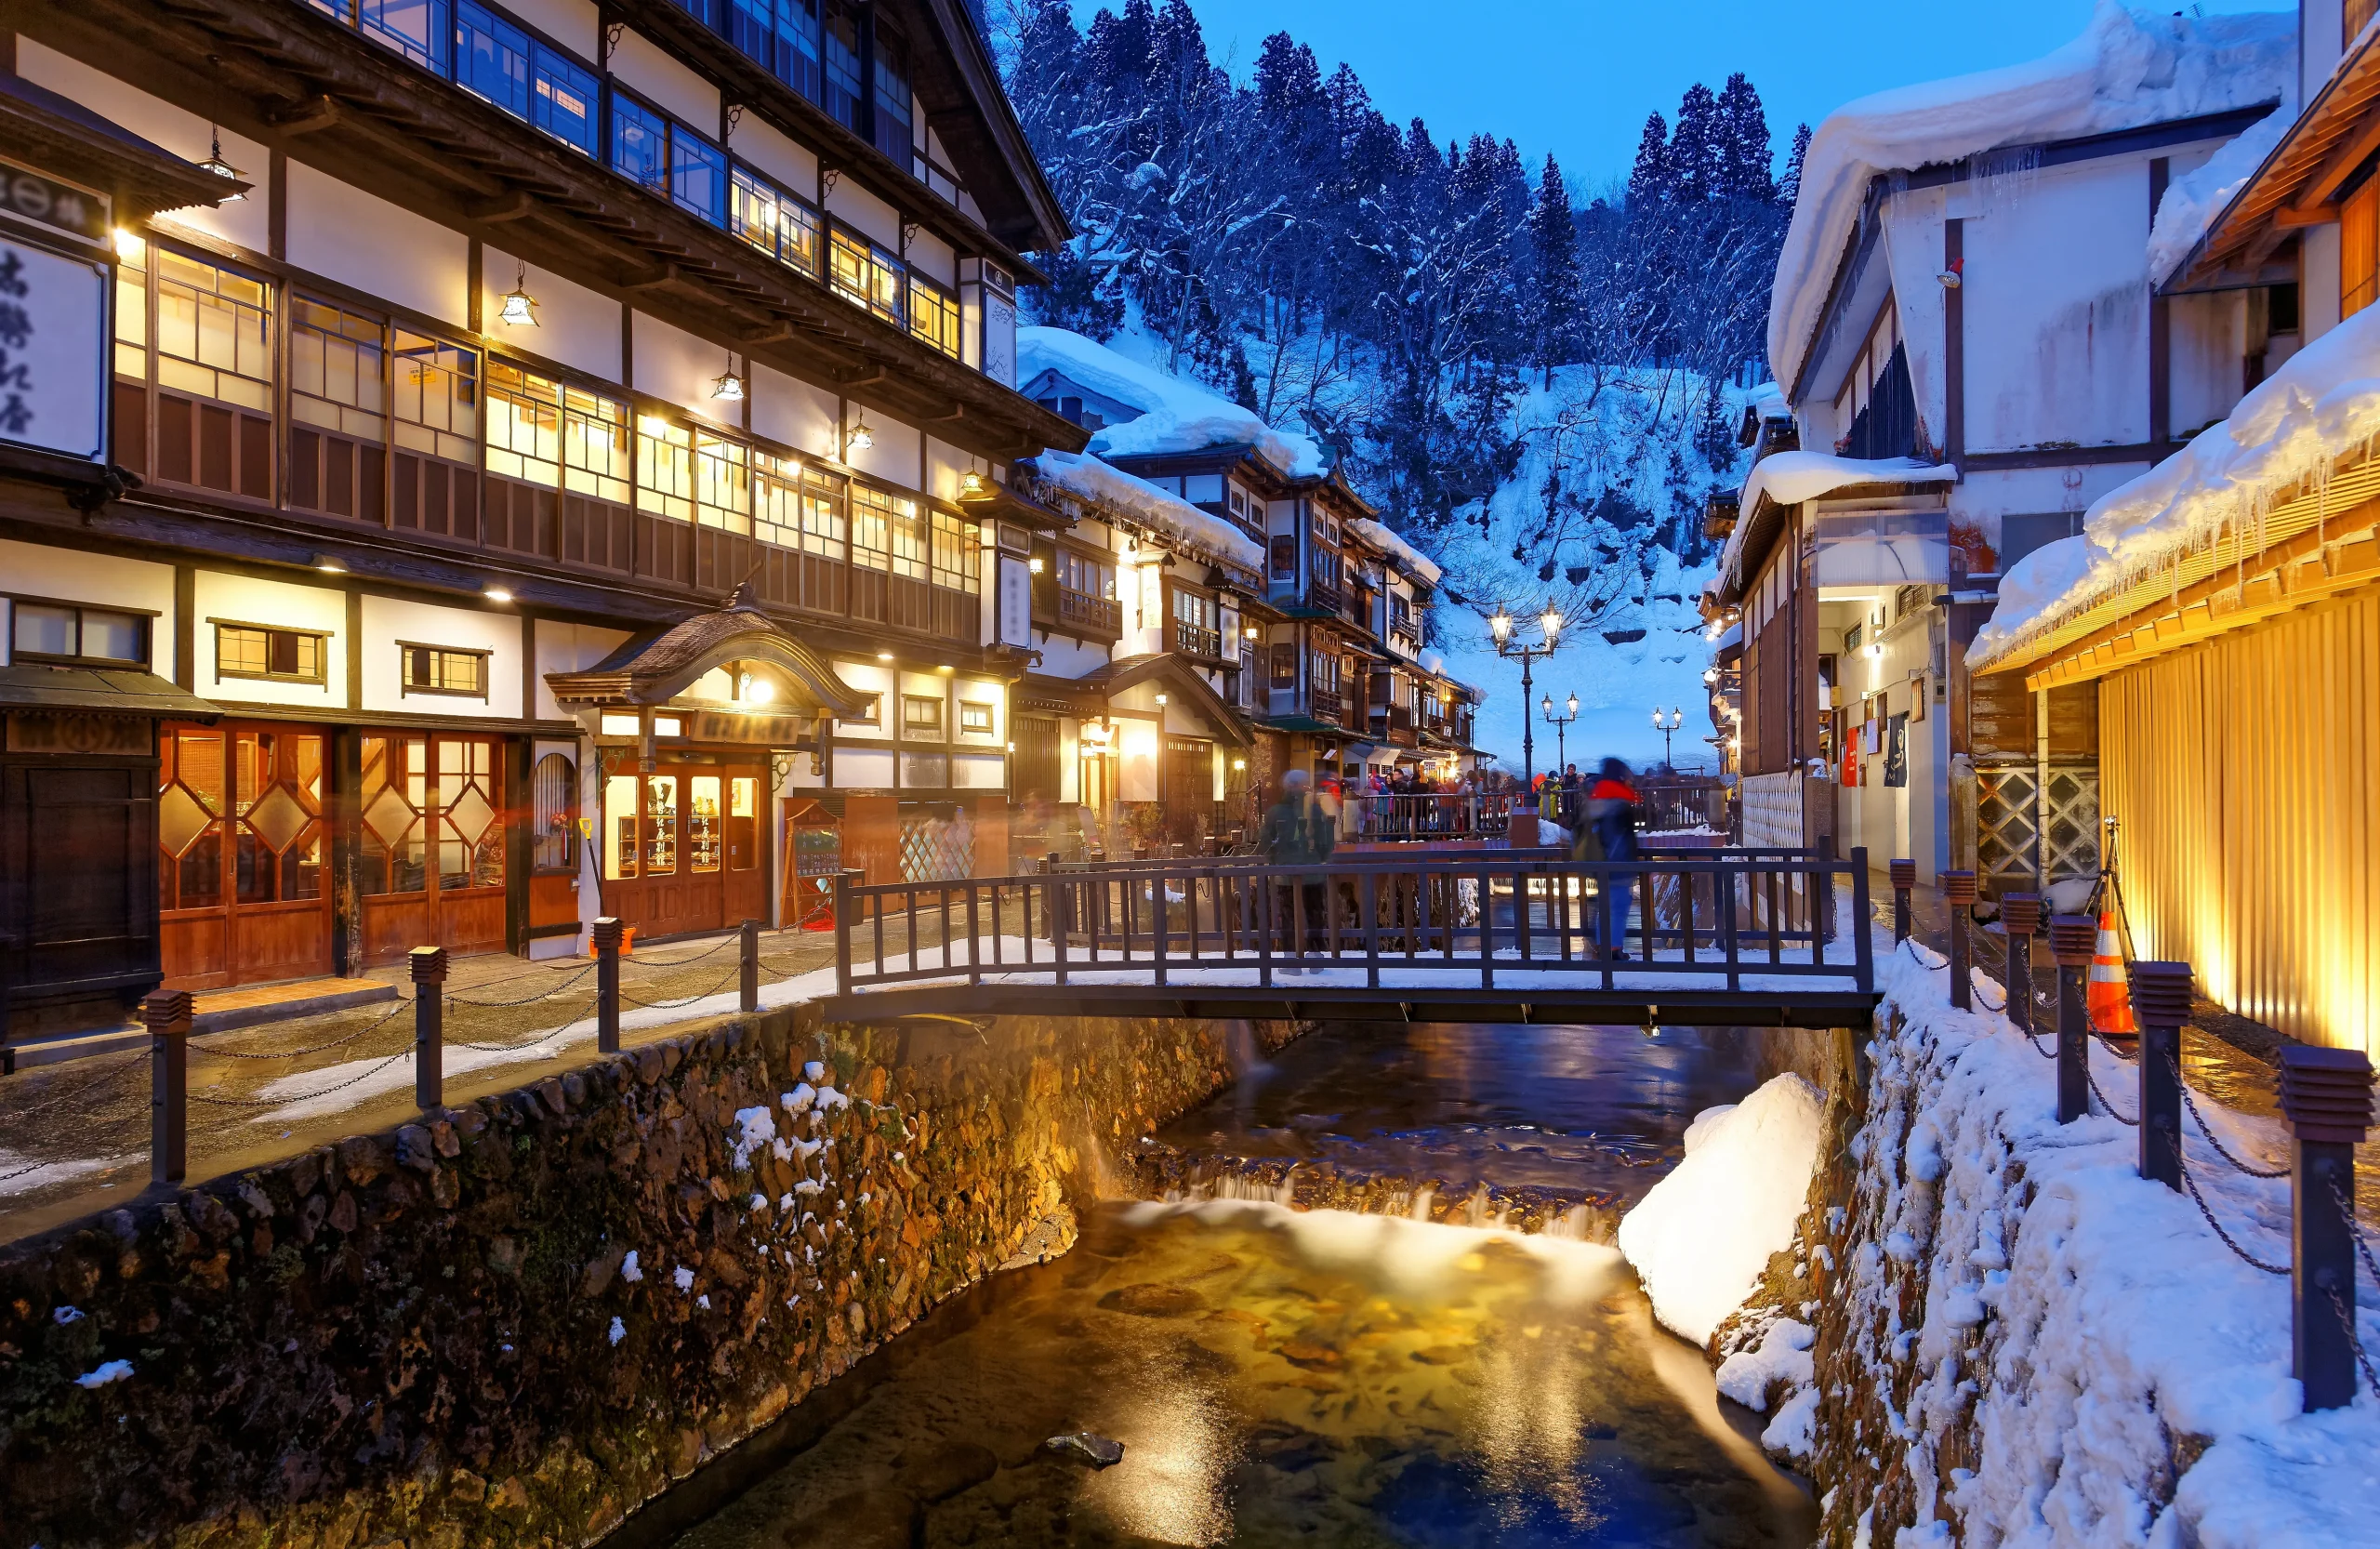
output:
MULTIPOLYGON (((1321 1028, 1169 1137, 1640 1197, 1754 1040, 1321 1028)), ((938 1309, 683 1549, 1811 1542, 1816 1506, 1595 1242, 1102 1204, 1081 1242, 938 1309), (1064 1432, 1123 1444, 1095 1468, 1064 1432)), ((816 1399, 814 1399, 816 1401, 816 1399)))

